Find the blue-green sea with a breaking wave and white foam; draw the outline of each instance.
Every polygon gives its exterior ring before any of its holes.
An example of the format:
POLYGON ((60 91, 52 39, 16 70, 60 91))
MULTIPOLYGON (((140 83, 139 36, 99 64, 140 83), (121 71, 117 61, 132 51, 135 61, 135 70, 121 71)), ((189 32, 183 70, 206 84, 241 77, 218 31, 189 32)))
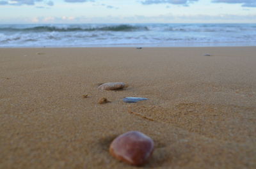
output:
POLYGON ((256 24, 1 24, 0 47, 256 46, 256 24))

